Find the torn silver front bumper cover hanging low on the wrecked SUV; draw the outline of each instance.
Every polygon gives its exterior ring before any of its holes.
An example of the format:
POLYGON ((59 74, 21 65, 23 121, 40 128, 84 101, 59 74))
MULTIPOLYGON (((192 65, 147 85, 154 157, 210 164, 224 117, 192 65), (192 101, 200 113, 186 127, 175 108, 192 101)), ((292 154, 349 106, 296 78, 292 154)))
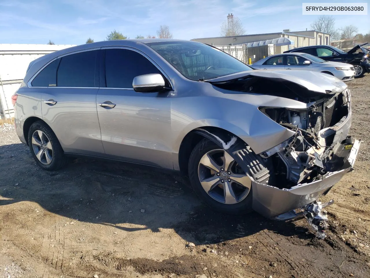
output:
MULTIPOLYGON (((269 185, 252 182, 253 209, 267 218, 302 208, 312 203, 320 196, 325 195, 332 186, 353 169, 360 141, 355 140, 349 154, 336 171, 327 172, 322 179, 311 183, 299 184, 290 189, 279 189, 269 185)), ((344 144, 338 148, 338 153, 343 151, 344 144)), ((341 156, 341 155, 340 155, 341 156)))

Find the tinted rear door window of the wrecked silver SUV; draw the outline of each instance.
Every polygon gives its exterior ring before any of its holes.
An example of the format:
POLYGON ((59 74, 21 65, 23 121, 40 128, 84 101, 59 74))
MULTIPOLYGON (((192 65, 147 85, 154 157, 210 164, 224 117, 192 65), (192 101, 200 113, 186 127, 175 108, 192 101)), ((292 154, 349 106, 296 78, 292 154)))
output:
POLYGON ((95 59, 98 50, 79 52, 61 58, 58 87, 95 87, 95 59))

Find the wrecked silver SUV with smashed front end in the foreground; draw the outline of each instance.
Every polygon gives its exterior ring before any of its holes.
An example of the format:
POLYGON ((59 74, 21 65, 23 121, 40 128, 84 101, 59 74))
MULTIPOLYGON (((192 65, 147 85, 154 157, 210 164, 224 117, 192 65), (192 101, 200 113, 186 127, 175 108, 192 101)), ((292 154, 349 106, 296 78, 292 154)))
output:
POLYGON ((252 70, 198 42, 113 40, 47 54, 13 99, 17 134, 41 168, 83 155, 181 171, 203 201, 232 214, 307 211, 359 149, 342 81, 252 70))

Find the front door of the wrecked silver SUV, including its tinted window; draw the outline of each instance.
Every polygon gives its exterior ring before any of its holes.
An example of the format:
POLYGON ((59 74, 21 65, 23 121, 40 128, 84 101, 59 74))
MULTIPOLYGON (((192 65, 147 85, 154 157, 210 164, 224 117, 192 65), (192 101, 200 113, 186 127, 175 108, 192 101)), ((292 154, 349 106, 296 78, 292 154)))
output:
POLYGON ((172 169, 171 97, 168 91, 138 93, 135 76, 160 73, 142 53, 102 48, 106 87, 96 102, 105 154, 112 159, 172 169))

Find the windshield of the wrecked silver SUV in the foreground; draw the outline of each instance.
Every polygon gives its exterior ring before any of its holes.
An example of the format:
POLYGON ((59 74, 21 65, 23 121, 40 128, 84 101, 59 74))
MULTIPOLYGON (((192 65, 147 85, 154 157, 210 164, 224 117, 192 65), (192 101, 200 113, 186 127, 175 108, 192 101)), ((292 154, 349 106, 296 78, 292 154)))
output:
POLYGON ((167 41, 146 44, 191 80, 213 79, 252 70, 229 54, 203 43, 167 41))

